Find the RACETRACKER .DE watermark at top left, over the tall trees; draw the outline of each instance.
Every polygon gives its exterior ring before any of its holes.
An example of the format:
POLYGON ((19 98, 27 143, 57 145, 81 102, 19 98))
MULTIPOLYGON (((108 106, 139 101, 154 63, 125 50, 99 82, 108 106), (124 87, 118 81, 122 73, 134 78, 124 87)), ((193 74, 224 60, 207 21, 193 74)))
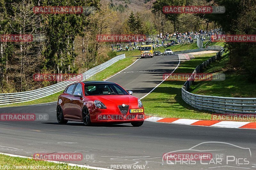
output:
POLYGON ((35 14, 91 14, 95 7, 89 6, 35 6, 35 14))

